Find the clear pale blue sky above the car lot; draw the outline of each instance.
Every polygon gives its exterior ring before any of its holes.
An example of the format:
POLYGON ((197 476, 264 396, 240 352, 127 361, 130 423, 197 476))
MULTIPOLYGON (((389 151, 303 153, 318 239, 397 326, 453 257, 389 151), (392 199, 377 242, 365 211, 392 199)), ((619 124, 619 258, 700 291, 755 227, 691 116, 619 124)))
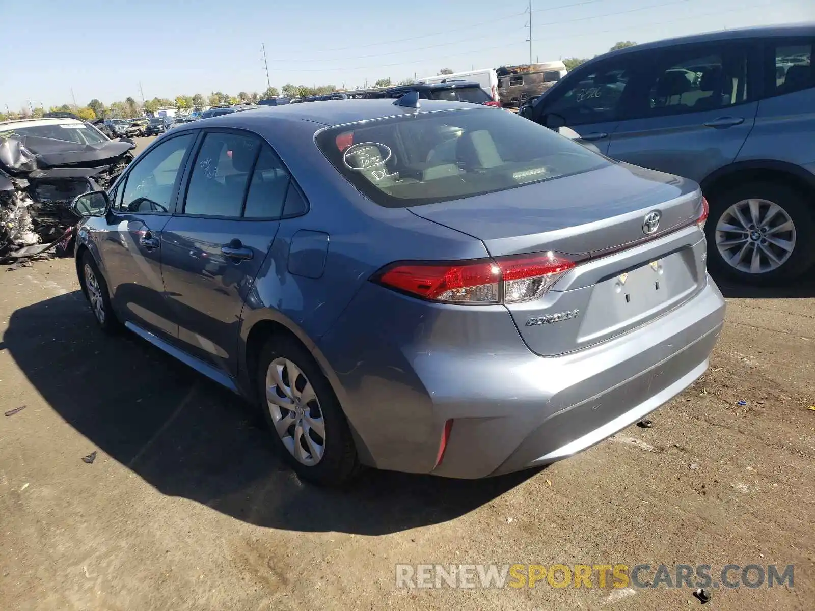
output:
MULTIPOLYGON (((172 98, 271 84, 363 85, 529 59, 526 0, 121 2, 81 11, 4 0, 0 108, 172 98), (121 32, 116 24, 126 25, 121 32)), ((587 57, 619 40, 815 20, 813 0, 532 0, 535 59, 587 57)))

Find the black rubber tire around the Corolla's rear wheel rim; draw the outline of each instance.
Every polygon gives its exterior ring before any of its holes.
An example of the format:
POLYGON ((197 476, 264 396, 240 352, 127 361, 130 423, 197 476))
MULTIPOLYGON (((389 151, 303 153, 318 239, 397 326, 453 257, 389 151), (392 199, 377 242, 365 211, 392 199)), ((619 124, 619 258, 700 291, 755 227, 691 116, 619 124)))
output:
MULTIPOLYGON (((285 381, 290 383, 290 380, 285 381)), ((275 451, 297 473, 297 477, 304 481, 311 481, 319 486, 333 487, 345 486, 355 479, 360 470, 359 459, 346 416, 342 413, 340 403, 337 401, 331 385, 323 375, 314 357, 299 341, 288 336, 274 336, 267 341, 258 359, 256 389, 258 407, 263 412, 263 417, 269 427, 269 434, 275 451), (306 465, 297 460, 275 429, 275 420, 269 402, 267 402, 266 380, 271 363, 279 358, 289 359, 302 372, 303 376, 297 377, 295 385, 298 385, 298 383, 304 384, 307 380, 315 391, 317 409, 315 410, 315 403, 311 402, 309 404, 311 410, 313 410, 311 415, 315 415, 315 411, 319 412, 318 417, 321 417, 324 423, 325 433, 323 455, 316 464, 306 465)), ((280 393, 278 396, 280 396, 280 393)), ((296 417, 293 411, 289 412, 293 417, 296 417)), ((287 429, 287 434, 292 433, 293 428, 294 424, 287 429)), ((317 437, 322 438, 319 435, 317 437)), ((290 435, 290 438, 293 440, 294 436, 290 435)), ((312 441, 314 438, 312 437, 312 441)), ((299 440, 297 441, 299 442, 299 440)), ((305 449, 305 442, 301 443, 305 449)))

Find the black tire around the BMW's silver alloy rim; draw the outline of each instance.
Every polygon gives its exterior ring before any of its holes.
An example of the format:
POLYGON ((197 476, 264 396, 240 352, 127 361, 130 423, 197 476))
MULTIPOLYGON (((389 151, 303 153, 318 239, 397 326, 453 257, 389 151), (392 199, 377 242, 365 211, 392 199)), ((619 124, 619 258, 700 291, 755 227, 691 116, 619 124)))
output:
POLYGON ((812 195, 807 197, 794 187, 777 182, 748 182, 727 191, 714 192, 708 200, 710 214, 705 225, 707 265, 717 278, 735 280, 740 284, 770 286, 790 282, 804 275, 815 264, 815 197, 812 195), (773 202, 783 209, 795 225, 795 247, 786 261, 774 270, 760 273, 738 270, 725 261, 719 252, 716 226, 732 205, 743 200, 773 202))

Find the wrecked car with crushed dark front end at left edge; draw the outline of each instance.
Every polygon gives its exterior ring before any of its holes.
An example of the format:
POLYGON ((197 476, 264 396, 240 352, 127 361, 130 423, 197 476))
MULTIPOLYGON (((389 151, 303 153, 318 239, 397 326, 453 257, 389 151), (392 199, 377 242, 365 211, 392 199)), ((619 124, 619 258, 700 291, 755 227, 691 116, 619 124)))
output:
POLYGON ((0 262, 73 254, 73 198, 107 189, 134 147, 78 118, 0 122, 0 262))

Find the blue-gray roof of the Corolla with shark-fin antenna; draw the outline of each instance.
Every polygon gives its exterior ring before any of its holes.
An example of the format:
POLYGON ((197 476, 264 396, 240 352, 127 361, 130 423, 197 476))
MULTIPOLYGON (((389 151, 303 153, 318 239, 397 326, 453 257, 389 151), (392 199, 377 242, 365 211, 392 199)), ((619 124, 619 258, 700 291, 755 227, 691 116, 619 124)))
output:
MULTIPOLYGON (((260 106, 252 112, 231 112, 228 115, 213 116, 195 121, 187 128, 196 130, 207 125, 253 129, 258 122, 265 121, 311 121, 319 125, 346 125, 358 121, 385 119, 405 114, 438 112, 443 110, 478 110, 495 112, 495 108, 480 107, 466 102, 422 99, 419 108, 406 108, 396 104, 397 100, 385 99, 336 99, 307 104, 284 104, 282 106, 260 106)), ((180 133, 180 132, 179 132, 180 133)))

